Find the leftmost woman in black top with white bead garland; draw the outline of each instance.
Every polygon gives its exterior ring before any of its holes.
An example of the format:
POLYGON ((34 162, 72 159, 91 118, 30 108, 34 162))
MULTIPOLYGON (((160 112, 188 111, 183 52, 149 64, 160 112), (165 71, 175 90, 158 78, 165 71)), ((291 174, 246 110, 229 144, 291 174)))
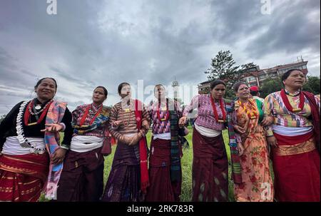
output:
POLYGON ((34 86, 37 97, 18 103, 1 121, 0 201, 35 202, 43 189, 47 198, 56 197, 63 148, 72 135, 71 113, 66 103, 54 101, 56 90, 54 78, 41 78, 34 86))

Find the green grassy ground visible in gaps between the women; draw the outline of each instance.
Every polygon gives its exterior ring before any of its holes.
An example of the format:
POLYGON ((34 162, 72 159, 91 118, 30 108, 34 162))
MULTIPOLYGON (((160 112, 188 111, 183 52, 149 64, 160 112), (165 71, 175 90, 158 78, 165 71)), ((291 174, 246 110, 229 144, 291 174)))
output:
MULTIPOLYGON (((182 173, 183 173, 183 182, 182 182, 182 194, 180 200, 183 202, 191 201, 192 199, 192 164, 193 164, 193 143, 192 143, 192 135, 193 129, 188 127, 189 134, 185 137, 190 143, 189 148, 183 148, 183 158, 181 160, 182 164, 182 173)), ((228 146, 228 130, 223 130, 223 138, 225 143, 225 148, 228 153, 228 162, 230 165, 230 148, 228 146)), ((151 142, 151 133, 147 134, 148 146, 151 142)), ((104 185, 106 185, 108 175, 111 171, 111 164, 113 163, 113 154, 115 153, 116 145, 112 147, 111 155, 105 157, 105 168, 103 173, 103 181, 104 185)), ((230 201, 234 201, 233 197, 233 182, 230 182, 230 168, 229 168, 229 189, 228 189, 228 197, 230 201)), ((41 195, 41 201, 46 201, 44 199, 44 195, 41 195)))

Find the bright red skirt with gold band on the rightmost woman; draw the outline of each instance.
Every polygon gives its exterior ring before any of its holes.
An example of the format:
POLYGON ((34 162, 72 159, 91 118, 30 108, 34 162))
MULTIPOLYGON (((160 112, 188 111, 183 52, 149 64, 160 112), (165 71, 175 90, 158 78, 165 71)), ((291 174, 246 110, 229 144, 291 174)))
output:
POLYGON ((320 154, 313 133, 274 135, 279 146, 272 150, 276 200, 320 202, 320 154))

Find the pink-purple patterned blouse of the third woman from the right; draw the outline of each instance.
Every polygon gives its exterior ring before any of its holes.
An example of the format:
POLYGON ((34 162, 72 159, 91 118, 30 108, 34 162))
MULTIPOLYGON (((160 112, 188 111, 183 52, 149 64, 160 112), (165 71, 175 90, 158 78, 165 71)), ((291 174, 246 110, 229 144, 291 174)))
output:
MULTIPOLYGON (((220 109, 220 103, 215 101, 216 110, 218 111, 218 118, 223 118, 222 110, 220 109)), ((186 106, 183 112, 184 116, 192 112, 195 108, 198 108, 198 117, 195 123, 199 126, 209 128, 212 130, 224 130, 224 123, 218 123, 215 120, 212 103, 210 102, 210 95, 198 95, 195 96, 190 105, 186 106)), ((224 103, 225 108, 225 103, 224 103)))

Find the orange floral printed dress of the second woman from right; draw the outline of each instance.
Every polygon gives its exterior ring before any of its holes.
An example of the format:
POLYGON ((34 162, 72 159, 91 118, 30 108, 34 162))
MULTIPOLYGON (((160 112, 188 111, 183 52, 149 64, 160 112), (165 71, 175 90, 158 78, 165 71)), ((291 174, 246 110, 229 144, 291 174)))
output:
MULTIPOLYGON (((273 182, 270 173, 265 130, 258 123, 258 118, 250 118, 248 113, 259 113, 252 99, 244 106, 235 103, 233 121, 245 128, 245 133, 236 134, 243 144, 240 156, 242 172, 241 184, 235 184, 235 200, 239 202, 272 202, 274 197, 273 182)), ((261 114, 262 115, 262 114, 261 114)))

